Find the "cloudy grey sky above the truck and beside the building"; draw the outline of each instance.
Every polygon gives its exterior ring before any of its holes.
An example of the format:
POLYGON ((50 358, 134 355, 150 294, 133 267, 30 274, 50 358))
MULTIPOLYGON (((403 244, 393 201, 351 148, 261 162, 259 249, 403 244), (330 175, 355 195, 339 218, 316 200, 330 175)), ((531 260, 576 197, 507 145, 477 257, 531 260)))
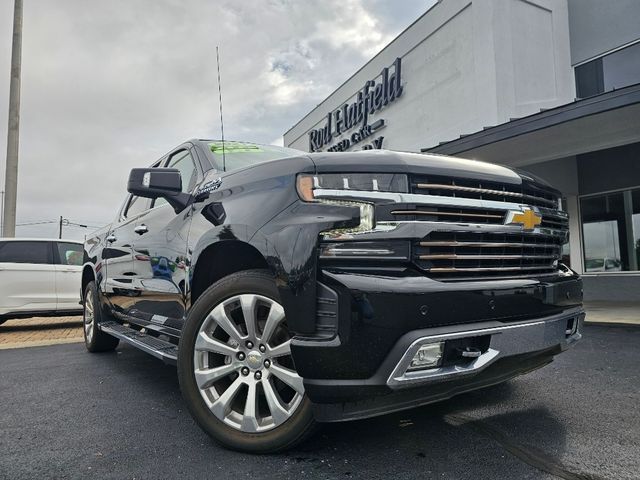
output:
MULTIPOLYGON (((16 235, 57 237, 60 216, 106 225, 131 168, 219 138, 216 46, 225 138, 281 144, 434 3, 24 0, 16 235), (39 222, 52 223, 24 225, 39 222)), ((0 2, 0 190, 12 17, 13 1, 0 2)))

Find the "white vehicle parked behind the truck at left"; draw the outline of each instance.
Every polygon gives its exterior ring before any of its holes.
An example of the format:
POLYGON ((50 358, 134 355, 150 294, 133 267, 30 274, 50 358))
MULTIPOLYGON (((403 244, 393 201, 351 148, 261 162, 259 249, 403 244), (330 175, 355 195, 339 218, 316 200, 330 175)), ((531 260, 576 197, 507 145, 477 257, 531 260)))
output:
POLYGON ((81 314, 83 263, 80 242, 0 238, 0 323, 81 314))

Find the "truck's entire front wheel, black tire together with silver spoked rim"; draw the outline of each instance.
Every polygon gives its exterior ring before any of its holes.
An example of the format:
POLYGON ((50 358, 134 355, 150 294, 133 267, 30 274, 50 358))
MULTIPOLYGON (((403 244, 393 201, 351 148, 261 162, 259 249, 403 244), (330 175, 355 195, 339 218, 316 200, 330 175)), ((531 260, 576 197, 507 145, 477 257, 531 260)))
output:
POLYGON ((178 379, 191 415, 226 448, 278 452, 314 430, 278 290, 263 270, 229 275, 198 298, 180 339, 178 379))

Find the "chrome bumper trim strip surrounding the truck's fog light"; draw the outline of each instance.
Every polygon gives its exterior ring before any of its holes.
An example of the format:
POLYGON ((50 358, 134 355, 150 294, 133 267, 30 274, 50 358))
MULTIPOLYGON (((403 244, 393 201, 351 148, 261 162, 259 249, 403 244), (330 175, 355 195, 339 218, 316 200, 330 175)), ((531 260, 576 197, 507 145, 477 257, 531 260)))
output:
POLYGON ((476 328, 462 332, 424 336, 414 341, 404 353, 387 380, 394 390, 435 381, 444 381, 473 375, 484 370, 499 358, 524 353, 533 353, 550 347, 560 346, 563 350, 582 338, 580 333, 584 322, 584 309, 576 308, 568 312, 500 327, 476 328), (567 333, 567 320, 575 319, 575 329, 567 333), (491 335, 489 348, 466 365, 453 365, 428 370, 407 372, 418 349, 428 343, 460 338, 491 335))

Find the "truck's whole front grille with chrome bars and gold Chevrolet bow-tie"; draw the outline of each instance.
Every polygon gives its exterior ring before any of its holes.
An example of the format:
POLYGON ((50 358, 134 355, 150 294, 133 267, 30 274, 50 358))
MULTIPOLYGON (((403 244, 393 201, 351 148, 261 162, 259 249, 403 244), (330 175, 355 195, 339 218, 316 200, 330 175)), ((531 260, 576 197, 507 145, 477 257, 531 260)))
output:
POLYGON ((432 278, 540 277, 562 270, 569 220, 556 190, 529 179, 512 184, 432 175, 410 175, 408 187, 316 192, 373 205, 374 229, 352 238, 411 239, 411 262, 432 278))

